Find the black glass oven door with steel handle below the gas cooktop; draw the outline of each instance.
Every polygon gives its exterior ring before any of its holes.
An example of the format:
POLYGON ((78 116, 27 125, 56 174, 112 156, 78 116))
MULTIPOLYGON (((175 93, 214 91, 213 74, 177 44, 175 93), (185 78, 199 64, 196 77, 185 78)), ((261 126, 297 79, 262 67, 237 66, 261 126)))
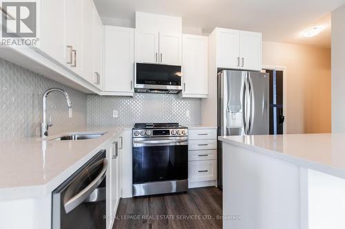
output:
POLYGON ((188 179, 188 138, 133 140, 133 184, 188 179))

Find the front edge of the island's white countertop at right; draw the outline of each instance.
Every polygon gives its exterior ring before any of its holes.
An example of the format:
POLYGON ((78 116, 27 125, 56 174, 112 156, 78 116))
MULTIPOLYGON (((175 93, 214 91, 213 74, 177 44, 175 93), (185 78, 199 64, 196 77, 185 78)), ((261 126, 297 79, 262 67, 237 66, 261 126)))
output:
POLYGON ((273 151, 271 149, 266 149, 266 148, 262 148, 259 146, 253 146, 250 144, 237 142, 235 140, 230 140, 230 139, 224 138, 222 136, 219 136, 218 140, 221 142, 228 143, 228 144, 233 144, 234 146, 242 147, 244 149, 250 149, 250 150, 253 150, 257 153, 262 153, 262 154, 268 155, 270 157, 275 157, 279 160, 284 160, 285 162, 289 162, 291 164, 296 164, 298 166, 310 168, 310 169, 313 169, 315 171, 319 171, 322 173, 326 173, 328 175, 333 175, 335 177, 340 177, 342 179, 345 179, 345 171, 340 169, 340 168, 333 168, 333 167, 328 166, 326 164, 319 164, 317 162, 313 162, 311 160, 306 160, 306 159, 303 159, 301 157, 295 157, 293 155, 287 155, 284 153, 280 153, 278 151, 273 151))

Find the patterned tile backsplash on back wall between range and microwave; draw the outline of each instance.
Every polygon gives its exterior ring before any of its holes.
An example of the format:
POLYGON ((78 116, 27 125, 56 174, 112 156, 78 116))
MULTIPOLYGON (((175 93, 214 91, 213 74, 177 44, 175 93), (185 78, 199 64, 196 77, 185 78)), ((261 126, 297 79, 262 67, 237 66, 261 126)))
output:
POLYGON ((132 98, 88 95, 88 125, 132 125, 135 122, 200 124, 201 100, 162 94, 135 94, 132 98), (113 110, 117 110, 117 118, 112 116, 113 110))

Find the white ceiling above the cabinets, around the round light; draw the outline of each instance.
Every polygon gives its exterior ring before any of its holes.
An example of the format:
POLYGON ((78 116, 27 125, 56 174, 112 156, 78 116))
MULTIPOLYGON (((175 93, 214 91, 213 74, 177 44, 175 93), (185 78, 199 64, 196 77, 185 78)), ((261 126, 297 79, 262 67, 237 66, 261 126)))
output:
MULTIPOLYGON (((345 0, 95 0, 107 24, 134 26, 135 11, 183 18, 185 28, 215 27, 263 33, 264 41, 331 47, 331 10, 345 0), (315 25, 325 30, 313 38, 301 34, 315 25)), ((193 30, 191 30, 193 31, 193 30)))

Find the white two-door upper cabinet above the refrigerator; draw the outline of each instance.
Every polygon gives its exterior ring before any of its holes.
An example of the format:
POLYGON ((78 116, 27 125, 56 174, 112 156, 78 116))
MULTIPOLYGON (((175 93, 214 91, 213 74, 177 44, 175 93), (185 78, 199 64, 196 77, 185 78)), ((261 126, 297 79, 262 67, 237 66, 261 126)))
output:
POLYGON ((216 28, 217 67, 262 69, 262 34, 216 28))

